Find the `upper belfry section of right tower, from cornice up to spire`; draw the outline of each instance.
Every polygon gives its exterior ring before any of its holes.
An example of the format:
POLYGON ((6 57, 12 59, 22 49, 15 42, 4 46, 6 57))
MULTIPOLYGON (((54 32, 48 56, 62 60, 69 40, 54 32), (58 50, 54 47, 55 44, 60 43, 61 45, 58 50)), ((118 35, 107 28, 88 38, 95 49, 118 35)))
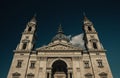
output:
POLYGON ((93 23, 84 15, 83 21, 84 40, 87 50, 103 50, 98 34, 93 26, 93 23))

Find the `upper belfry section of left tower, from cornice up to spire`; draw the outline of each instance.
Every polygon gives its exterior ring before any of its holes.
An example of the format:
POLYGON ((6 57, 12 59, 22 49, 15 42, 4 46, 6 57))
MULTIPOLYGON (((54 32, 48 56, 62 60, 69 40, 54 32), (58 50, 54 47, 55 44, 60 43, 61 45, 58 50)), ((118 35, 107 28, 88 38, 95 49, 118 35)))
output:
POLYGON ((36 37, 36 15, 27 23, 20 43, 18 44, 17 51, 31 51, 35 46, 35 37, 36 37))

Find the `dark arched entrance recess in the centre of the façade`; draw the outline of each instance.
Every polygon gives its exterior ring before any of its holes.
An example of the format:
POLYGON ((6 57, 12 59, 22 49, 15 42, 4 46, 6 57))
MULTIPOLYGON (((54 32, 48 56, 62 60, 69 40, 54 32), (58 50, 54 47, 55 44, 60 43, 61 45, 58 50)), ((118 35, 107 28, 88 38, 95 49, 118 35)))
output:
POLYGON ((52 65, 52 78, 67 78, 67 64, 57 60, 52 65))

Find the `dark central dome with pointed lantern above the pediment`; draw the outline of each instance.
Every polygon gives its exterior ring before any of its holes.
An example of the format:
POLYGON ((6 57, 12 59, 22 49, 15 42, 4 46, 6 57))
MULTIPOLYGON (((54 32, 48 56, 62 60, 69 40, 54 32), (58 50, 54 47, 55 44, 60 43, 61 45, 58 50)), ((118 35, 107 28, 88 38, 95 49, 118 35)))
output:
POLYGON ((67 41, 67 42, 70 41, 69 38, 68 38, 66 35, 63 34, 61 25, 60 25, 59 28, 58 28, 58 33, 57 33, 57 35, 56 35, 55 37, 53 37, 52 42, 53 42, 53 41, 56 41, 56 40, 65 40, 65 41, 67 41))

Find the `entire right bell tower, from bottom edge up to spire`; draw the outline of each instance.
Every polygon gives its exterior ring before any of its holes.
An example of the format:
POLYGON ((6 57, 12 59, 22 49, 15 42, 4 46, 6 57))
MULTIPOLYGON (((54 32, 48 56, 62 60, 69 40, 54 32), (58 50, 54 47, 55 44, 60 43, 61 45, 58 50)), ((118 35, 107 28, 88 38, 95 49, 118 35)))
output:
POLYGON ((93 78, 113 78, 106 58, 106 50, 99 40, 93 23, 85 15, 83 30, 85 47, 89 55, 93 78))

